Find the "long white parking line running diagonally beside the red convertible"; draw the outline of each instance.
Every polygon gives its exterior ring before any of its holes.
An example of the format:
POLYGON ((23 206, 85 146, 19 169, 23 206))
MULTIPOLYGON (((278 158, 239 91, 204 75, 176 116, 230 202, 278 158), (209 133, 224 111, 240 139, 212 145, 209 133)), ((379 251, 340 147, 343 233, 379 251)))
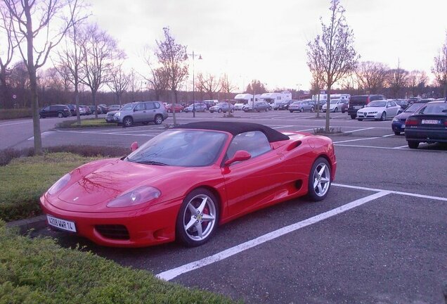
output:
POLYGON ((205 266, 210 265, 214 262, 219 262, 220 260, 229 258, 232 255, 241 253, 242 251, 246 251, 247 249, 253 248, 253 247, 258 246, 258 245, 265 243, 267 241, 277 239, 280 236, 289 234, 290 232, 294 232, 298 229, 309 226, 311 224, 315 224, 317 222, 325 220, 325 219, 332 217, 334 215, 338 215, 339 213, 344 213, 347 210, 351 210, 352 208, 356 208, 359 205, 363 205, 364 203, 368 203, 369 201, 375 200, 376 198, 381 198, 382 196, 386 196, 390 193, 391 193, 391 191, 380 191, 376 194, 371 194, 370 196, 366 196, 364 198, 359 198, 356 201, 352 201, 351 203, 347 203, 346 205, 342 205, 342 206, 339 206, 338 208, 326 211, 325 213, 321 213, 319 215, 309 217, 307 220, 303 220, 301 222, 297 222, 295 224, 291 224, 289 226, 277 229, 273 232, 269 232, 268 234, 258 236, 256 239, 246 241, 245 243, 241 243, 238 246, 234 246, 234 247, 228 248, 224 251, 221 251, 219 253, 216 253, 214 255, 210 255, 207 258, 202 258, 201 260, 196 260, 196 261, 190 262, 186 265, 182 265, 180 267, 176 267, 174 269, 161 272, 160 274, 157 274, 156 277, 169 281, 169 280, 174 279, 175 277, 178 277, 179 275, 184 274, 186 272, 190 272, 192 270, 196 270, 201 267, 205 267, 205 266))

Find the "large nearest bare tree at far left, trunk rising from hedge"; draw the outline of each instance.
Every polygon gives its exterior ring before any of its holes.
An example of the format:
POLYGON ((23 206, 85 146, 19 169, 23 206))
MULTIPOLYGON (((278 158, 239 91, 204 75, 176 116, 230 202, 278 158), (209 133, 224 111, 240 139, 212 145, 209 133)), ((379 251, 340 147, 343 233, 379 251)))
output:
POLYGON ((50 51, 60 43, 72 26, 74 15, 79 10, 79 1, 81 0, 4 0, 15 42, 30 75, 34 152, 37 154, 41 153, 42 141, 36 71, 46 63, 50 51), (53 22, 58 24, 57 29, 53 22), (35 41, 43 43, 35 44, 35 41))

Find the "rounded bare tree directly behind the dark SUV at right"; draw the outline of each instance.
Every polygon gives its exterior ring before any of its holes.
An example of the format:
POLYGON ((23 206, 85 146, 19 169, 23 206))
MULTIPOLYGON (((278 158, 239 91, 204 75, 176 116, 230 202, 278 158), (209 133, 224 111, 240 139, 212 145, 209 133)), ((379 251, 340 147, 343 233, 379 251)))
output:
POLYGON ((358 87, 370 94, 382 93, 389 68, 384 63, 364 61, 356 69, 358 87))

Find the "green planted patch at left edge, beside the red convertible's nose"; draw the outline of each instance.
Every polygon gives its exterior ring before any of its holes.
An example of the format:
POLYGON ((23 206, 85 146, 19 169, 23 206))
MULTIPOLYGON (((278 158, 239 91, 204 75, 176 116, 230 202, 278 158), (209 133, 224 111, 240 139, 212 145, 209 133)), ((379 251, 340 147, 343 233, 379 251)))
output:
POLYGON ((0 167, 0 219, 6 222, 41 214, 39 198, 65 173, 98 158, 73 153, 14 158, 0 167))

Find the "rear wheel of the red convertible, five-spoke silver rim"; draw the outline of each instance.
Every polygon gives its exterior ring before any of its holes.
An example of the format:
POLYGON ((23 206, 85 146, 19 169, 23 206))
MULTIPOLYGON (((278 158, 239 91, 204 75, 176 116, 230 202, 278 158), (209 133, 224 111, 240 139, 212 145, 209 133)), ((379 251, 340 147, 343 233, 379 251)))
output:
POLYGON ((312 201, 322 201, 326 196, 328 196, 330 184, 330 165, 328 160, 325 158, 317 158, 312 165, 311 172, 309 172, 307 196, 312 201), (322 179, 324 179, 324 185, 320 189, 322 179))

